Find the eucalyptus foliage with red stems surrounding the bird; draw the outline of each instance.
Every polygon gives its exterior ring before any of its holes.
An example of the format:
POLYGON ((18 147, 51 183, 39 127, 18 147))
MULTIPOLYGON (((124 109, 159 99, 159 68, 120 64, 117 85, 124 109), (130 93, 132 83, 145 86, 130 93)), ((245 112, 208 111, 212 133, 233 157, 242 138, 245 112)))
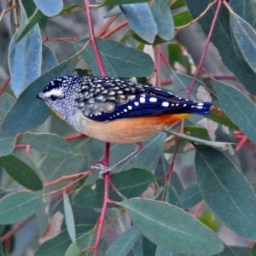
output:
POLYGON ((9 17, 14 32, 0 90, 1 254, 256 255, 256 3, 5 2, 0 26, 9 17), (49 36, 55 17, 85 12, 89 34, 49 36), (74 54, 59 61, 48 43, 74 54), (91 166, 109 153, 113 166, 133 145, 81 136, 36 98, 73 73, 136 77, 214 107, 148 138, 102 179, 91 166), (246 247, 232 246, 236 235, 246 247))

